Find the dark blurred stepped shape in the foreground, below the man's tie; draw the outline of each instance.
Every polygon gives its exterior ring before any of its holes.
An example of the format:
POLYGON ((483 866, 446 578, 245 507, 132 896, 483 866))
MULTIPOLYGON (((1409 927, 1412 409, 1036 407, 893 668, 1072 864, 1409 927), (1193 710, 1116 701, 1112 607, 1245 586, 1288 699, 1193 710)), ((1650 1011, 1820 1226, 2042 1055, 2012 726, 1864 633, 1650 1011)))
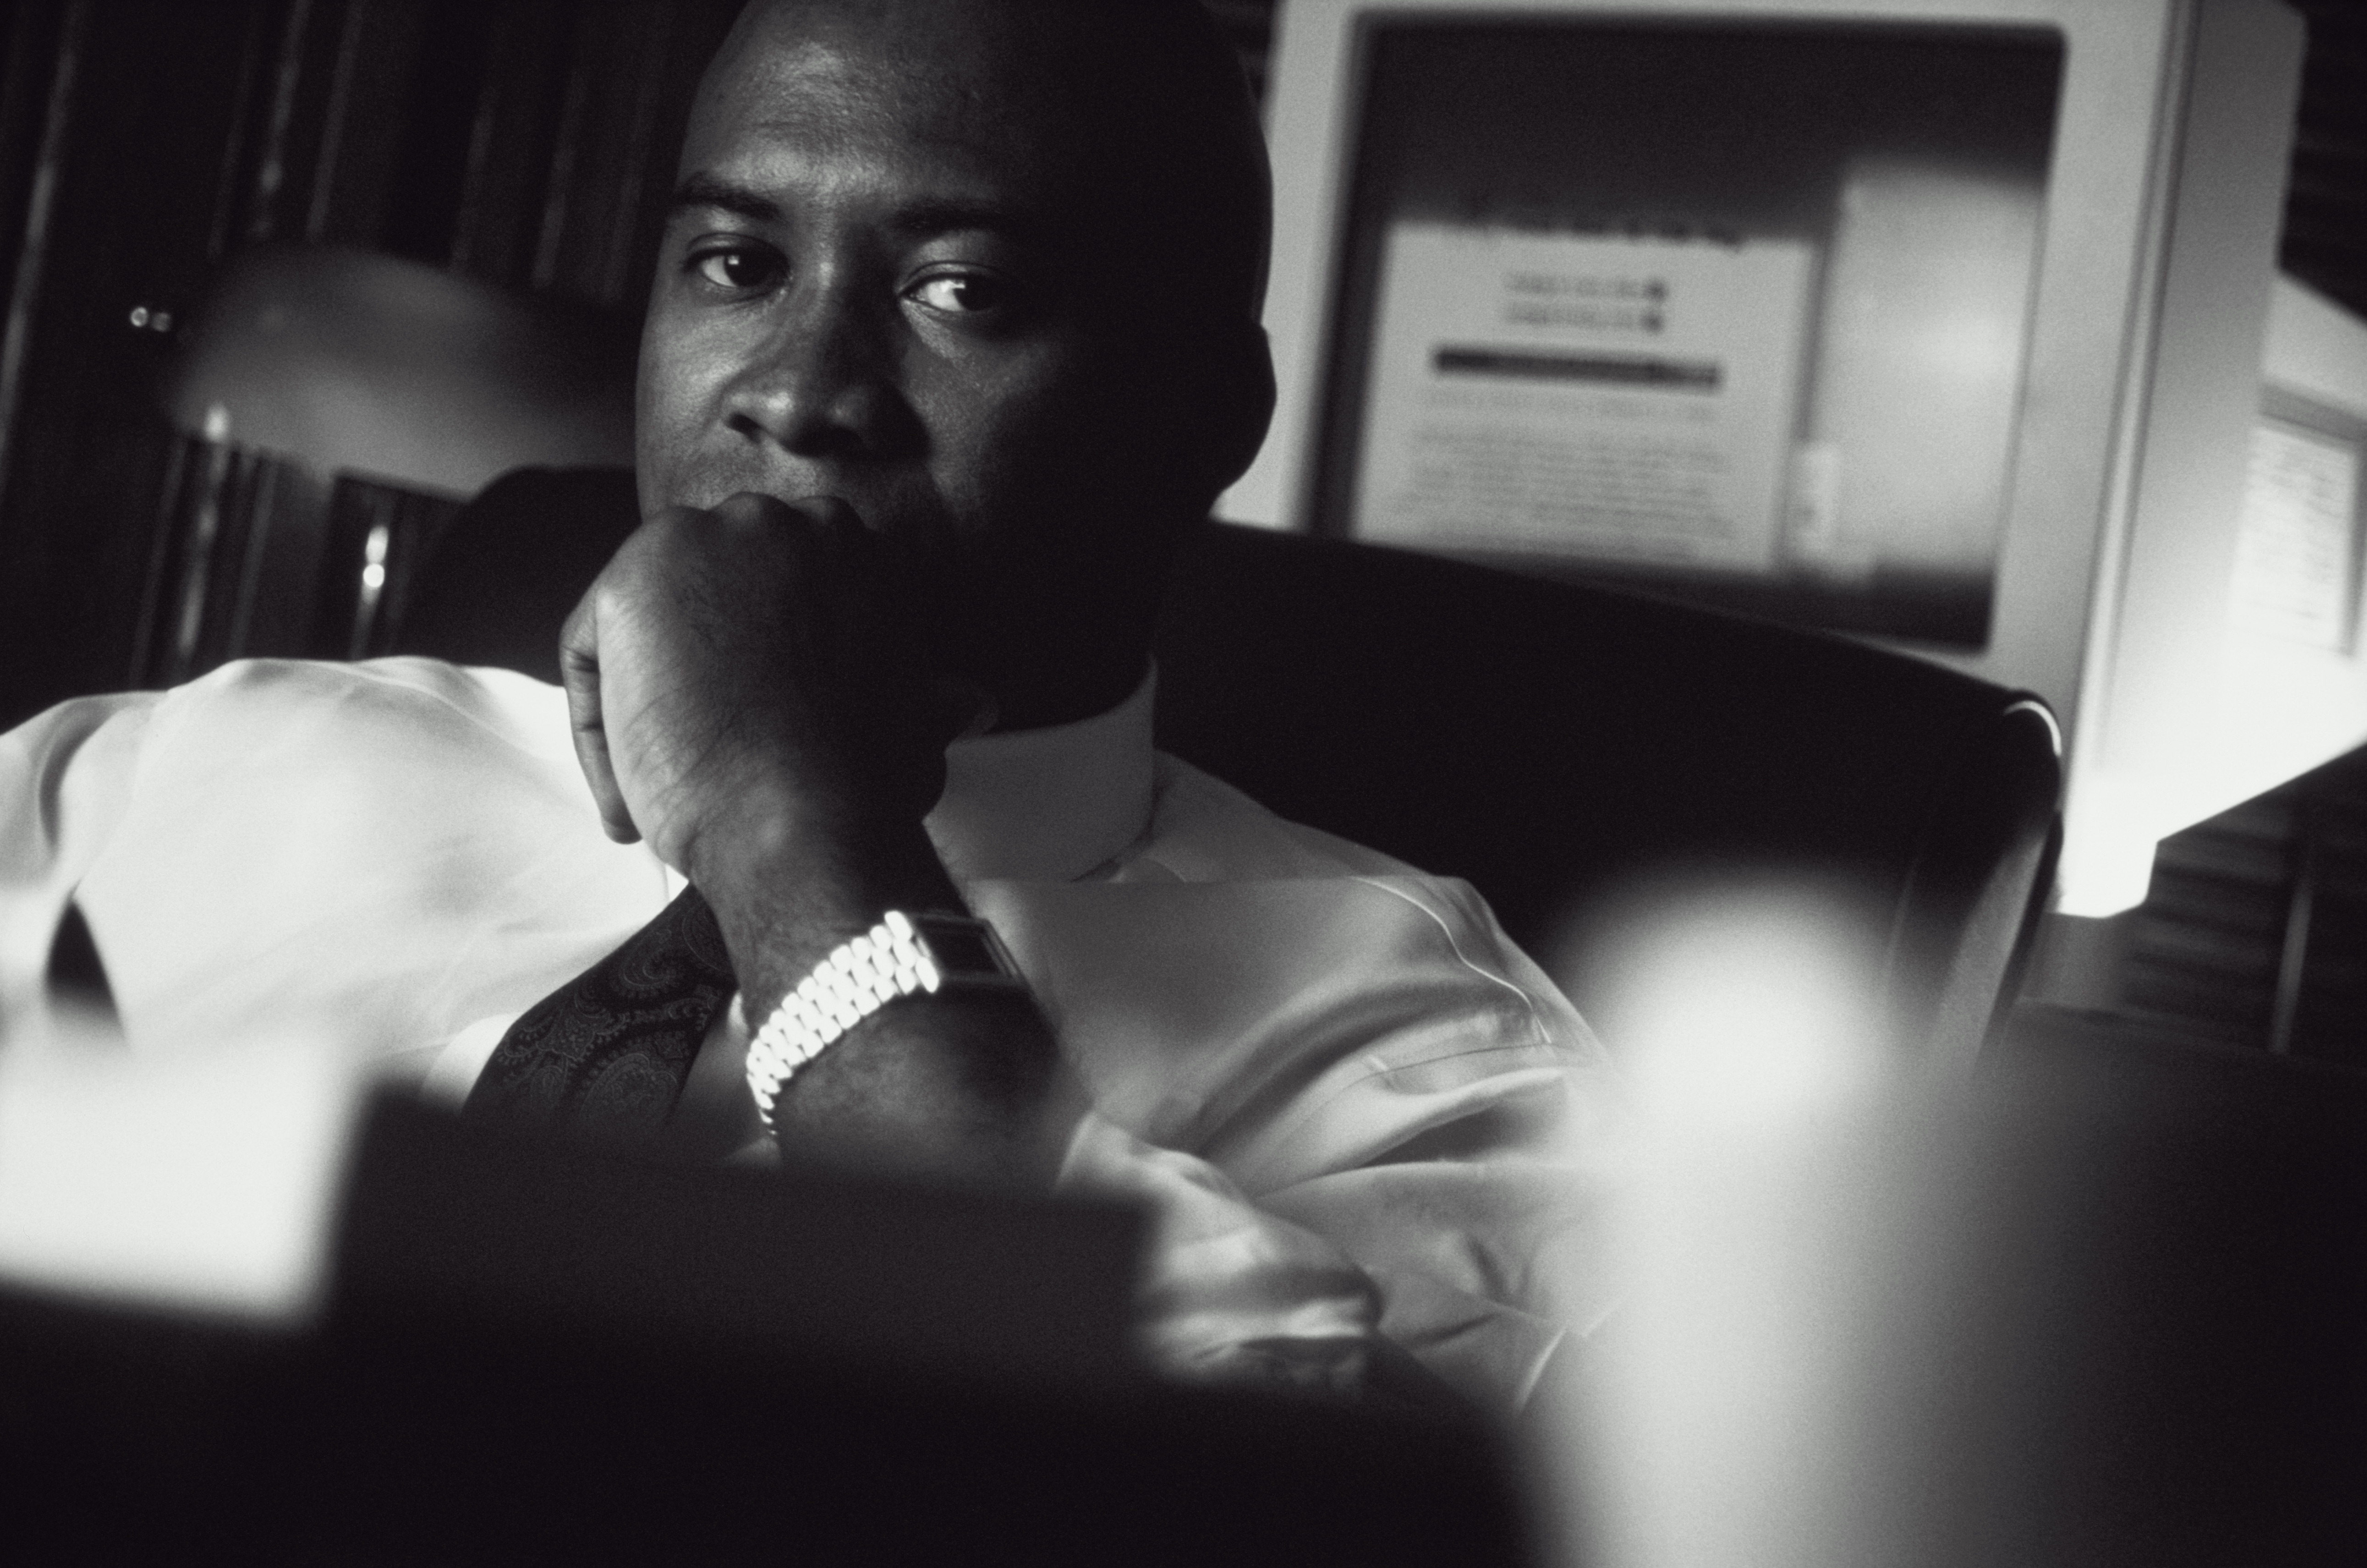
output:
POLYGON ((301 1331, 0 1291, 12 1540, 76 1561, 1529 1561, 1482 1426, 1134 1374, 1127 1210, 653 1165, 381 1101, 334 1234, 301 1331))

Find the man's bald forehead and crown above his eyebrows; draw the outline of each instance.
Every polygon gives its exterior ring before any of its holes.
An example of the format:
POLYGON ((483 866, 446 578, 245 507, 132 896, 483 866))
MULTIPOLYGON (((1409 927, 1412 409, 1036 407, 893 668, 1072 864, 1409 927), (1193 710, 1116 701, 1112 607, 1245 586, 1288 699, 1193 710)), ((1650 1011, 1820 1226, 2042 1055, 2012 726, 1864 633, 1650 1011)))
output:
POLYGON ((788 175, 783 208, 840 178, 987 194, 1079 275, 1150 263, 1191 310, 1257 317, 1264 144, 1195 0, 757 0, 701 83, 679 173, 757 156, 788 175))

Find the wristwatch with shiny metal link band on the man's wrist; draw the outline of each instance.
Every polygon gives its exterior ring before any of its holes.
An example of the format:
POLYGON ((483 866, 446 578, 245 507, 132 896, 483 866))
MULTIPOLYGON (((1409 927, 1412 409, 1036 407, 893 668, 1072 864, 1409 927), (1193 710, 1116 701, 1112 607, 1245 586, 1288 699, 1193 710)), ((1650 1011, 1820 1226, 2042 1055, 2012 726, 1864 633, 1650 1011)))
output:
POLYGON ((1011 950, 982 919, 890 910, 831 950, 781 997, 748 1042, 748 1092, 772 1130, 772 1106, 805 1063, 878 1009, 916 992, 1027 995, 1011 950))

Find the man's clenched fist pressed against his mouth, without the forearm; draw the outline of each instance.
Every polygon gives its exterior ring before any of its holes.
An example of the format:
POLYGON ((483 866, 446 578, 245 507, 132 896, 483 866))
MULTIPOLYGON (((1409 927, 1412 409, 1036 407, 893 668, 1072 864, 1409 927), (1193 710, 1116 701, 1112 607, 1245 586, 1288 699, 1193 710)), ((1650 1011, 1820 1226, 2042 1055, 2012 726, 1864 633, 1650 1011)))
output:
POLYGON ((961 713, 921 668, 892 547, 836 500, 646 521, 561 632, 575 756, 611 838, 698 879, 757 815, 918 822, 961 713))

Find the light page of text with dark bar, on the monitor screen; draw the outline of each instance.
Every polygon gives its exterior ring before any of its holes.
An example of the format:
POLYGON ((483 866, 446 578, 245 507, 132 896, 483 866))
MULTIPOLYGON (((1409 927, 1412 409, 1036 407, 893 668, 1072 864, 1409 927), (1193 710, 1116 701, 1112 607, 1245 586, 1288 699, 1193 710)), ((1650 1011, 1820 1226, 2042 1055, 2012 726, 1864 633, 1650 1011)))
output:
POLYGON ((1778 566, 1813 246, 1399 223, 1361 538, 1778 566))

